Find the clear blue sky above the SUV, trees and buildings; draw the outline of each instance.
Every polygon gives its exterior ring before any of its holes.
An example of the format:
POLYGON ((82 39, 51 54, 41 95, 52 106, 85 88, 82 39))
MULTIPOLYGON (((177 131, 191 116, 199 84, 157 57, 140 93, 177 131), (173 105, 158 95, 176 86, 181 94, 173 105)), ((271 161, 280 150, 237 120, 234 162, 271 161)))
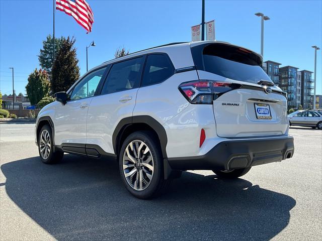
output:
MULTIPOLYGON (((199 1, 87 1, 94 12, 93 32, 86 34, 70 16, 56 11, 56 36, 74 36, 81 74, 113 58, 124 46, 130 52, 171 42, 191 41, 190 27, 201 22, 199 1)), ((0 0, 0 90, 25 93, 28 74, 38 66, 39 50, 52 34, 53 1, 0 0)), ((260 18, 265 22, 264 60, 314 71, 312 45, 322 47, 321 1, 209 1, 205 19, 216 20, 216 39, 260 52, 260 18)), ((317 94, 322 93, 321 50, 317 55, 317 94)))

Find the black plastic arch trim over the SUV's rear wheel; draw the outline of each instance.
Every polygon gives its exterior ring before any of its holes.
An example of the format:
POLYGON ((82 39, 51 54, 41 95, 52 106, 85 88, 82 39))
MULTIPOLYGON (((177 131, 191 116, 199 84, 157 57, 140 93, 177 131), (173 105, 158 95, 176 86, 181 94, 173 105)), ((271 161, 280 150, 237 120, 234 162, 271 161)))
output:
POLYGON ((154 119, 149 115, 135 115, 135 116, 125 117, 121 119, 121 121, 116 126, 114 133, 112 135, 114 153, 117 154, 119 151, 119 147, 118 147, 119 141, 125 129, 133 124, 146 124, 151 129, 153 129, 159 138, 163 158, 167 158, 166 147, 168 143, 168 138, 167 138, 166 130, 158 121, 156 121, 156 119, 154 119))

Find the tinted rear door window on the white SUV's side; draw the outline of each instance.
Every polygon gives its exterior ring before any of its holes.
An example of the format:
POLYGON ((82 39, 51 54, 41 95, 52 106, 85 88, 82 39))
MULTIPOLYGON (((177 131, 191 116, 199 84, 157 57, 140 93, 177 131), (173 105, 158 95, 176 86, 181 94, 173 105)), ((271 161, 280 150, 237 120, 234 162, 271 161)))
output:
POLYGON ((143 57, 113 64, 102 94, 137 88, 140 85, 143 57))

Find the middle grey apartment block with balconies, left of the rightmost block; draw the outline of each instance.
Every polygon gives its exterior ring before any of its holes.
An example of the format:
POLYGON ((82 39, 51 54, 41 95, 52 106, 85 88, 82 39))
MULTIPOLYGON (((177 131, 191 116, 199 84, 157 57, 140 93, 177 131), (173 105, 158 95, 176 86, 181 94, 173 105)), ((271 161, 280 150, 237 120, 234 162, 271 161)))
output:
POLYGON ((280 73, 279 87, 283 91, 287 92, 287 97, 288 97, 287 104, 289 108, 298 108, 299 106, 299 103, 297 101, 298 99, 297 70, 298 68, 289 66, 289 65, 279 68, 279 73, 280 73))

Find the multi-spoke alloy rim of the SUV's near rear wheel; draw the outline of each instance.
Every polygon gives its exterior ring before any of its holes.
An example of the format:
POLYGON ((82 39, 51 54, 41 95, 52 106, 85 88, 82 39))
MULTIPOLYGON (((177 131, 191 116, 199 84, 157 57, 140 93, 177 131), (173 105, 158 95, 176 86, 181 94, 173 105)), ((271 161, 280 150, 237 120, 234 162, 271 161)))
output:
POLYGON ((127 145, 123 154, 123 172, 134 190, 147 188, 153 177, 153 169, 153 157, 144 142, 135 140, 127 145))

